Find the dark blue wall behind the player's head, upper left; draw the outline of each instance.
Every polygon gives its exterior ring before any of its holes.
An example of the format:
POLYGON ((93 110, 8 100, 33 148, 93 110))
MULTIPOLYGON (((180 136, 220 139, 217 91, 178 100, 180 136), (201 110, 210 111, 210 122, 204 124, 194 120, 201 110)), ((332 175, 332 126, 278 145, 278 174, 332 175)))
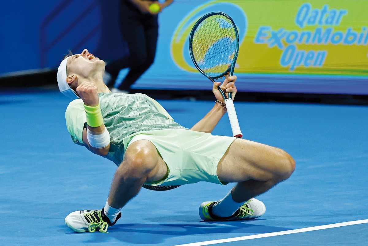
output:
POLYGON ((89 48, 101 59, 124 52, 118 1, 4 1, 0 15, 0 74, 59 66, 68 49, 89 48))

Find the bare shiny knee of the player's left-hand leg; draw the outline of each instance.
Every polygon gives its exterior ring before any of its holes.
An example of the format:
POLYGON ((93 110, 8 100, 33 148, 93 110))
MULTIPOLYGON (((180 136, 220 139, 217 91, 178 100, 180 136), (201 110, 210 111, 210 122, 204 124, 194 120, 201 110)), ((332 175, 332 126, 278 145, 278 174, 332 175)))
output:
POLYGON ((124 154, 124 160, 119 169, 130 178, 143 178, 156 167, 158 153, 155 146, 148 140, 138 140, 132 143, 124 154))

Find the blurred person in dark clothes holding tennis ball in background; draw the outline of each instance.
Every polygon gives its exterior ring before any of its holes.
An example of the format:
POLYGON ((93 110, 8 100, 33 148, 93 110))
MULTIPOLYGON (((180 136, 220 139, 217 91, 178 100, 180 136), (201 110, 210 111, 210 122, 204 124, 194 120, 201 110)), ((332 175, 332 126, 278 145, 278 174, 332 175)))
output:
POLYGON ((110 77, 107 85, 114 87, 119 71, 130 68, 116 93, 130 93, 130 86, 151 66, 155 59, 158 39, 158 14, 173 0, 163 3, 151 0, 120 0, 119 26, 128 54, 107 63, 105 73, 110 77), (153 5, 152 5, 153 4, 153 5))

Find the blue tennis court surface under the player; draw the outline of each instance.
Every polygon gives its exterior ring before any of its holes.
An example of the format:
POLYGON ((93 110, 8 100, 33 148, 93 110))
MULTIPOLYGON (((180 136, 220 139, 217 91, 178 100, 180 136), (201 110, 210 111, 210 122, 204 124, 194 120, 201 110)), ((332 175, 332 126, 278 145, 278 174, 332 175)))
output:
MULTIPOLYGON (((74 233, 64 218, 105 205, 116 166, 72 143, 68 98, 52 89, 0 92, 0 245, 367 245, 368 107, 236 102, 246 139, 282 148, 296 171, 259 196, 266 214, 245 222, 203 222, 203 201, 232 184, 142 189, 105 233, 74 233)), ((193 126, 212 101, 158 99, 193 126)), ((235 99, 236 101, 236 99, 235 99)), ((231 135, 224 116, 213 134, 231 135)))

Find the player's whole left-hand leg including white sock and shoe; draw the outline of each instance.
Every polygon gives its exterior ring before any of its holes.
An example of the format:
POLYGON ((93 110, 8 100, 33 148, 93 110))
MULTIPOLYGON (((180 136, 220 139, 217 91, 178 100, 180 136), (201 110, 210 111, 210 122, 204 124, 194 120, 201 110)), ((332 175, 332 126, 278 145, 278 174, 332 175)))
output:
POLYGON ((120 209, 138 194, 143 183, 164 178, 166 171, 165 162, 151 142, 138 140, 132 143, 115 172, 105 207, 72 212, 65 218, 65 223, 75 232, 107 232, 107 227, 121 217, 120 209))

